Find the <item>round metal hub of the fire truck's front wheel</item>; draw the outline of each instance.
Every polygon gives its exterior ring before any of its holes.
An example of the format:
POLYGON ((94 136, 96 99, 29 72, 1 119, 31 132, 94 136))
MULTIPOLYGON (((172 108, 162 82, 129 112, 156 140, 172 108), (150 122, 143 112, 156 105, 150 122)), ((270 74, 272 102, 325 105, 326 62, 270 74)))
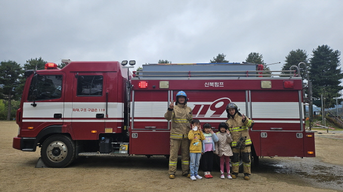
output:
POLYGON ((46 149, 46 154, 53 162, 62 161, 68 154, 66 145, 61 141, 54 141, 46 149))

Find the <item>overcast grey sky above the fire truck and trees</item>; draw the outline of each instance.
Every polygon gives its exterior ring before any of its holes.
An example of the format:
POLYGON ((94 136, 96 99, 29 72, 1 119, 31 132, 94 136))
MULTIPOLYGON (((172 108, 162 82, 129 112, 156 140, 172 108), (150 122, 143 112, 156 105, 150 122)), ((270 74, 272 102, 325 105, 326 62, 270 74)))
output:
MULTIPOLYGON (((0 0, 0 61, 167 59, 251 52, 280 70, 291 50, 343 51, 342 0, 0 0)), ((135 68, 136 69, 136 68, 135 68)))

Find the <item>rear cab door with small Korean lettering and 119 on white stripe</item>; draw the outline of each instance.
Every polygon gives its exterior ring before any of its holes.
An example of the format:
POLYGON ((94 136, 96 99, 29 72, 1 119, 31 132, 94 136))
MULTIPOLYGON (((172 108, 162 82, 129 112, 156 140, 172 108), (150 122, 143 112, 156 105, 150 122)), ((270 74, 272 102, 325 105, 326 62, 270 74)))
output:
POLYGON ((76 140, 97 140, 105 131, 106 73, 75 73, 72 127, 76 140))

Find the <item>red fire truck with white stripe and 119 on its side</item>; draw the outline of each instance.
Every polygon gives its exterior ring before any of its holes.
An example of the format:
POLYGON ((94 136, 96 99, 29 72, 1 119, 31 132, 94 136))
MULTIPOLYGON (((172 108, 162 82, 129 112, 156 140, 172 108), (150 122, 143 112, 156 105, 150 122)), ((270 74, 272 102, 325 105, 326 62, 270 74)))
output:
MULTIPOLYGON (((294 71, 263 74, 256 64, 149 64, 131 74, 127 61, 47 63, 28 70, 13 148, 41 148, 48 167, 79 156, 169 155, 171 100, 187 93, 193 118, 214 130, 235 103, 255 121, 252 154, 314 157, 314 133, 305 130, 302 77, 294 71)), ((129 62, 131 65, 135 61, 129 62)))

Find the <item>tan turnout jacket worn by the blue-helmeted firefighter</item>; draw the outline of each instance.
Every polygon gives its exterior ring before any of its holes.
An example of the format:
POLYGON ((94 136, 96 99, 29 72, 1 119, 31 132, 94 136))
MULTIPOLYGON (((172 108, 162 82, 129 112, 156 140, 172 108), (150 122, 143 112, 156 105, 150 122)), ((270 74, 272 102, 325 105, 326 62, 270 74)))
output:
POLYGON ((168 109, 167 113, 164 114, 164 118, 172 121, 170 128, 171 139, 188 138, 193 115, 191 108, 187 107, 187 104, 177 104, 172 111, 168 109))

